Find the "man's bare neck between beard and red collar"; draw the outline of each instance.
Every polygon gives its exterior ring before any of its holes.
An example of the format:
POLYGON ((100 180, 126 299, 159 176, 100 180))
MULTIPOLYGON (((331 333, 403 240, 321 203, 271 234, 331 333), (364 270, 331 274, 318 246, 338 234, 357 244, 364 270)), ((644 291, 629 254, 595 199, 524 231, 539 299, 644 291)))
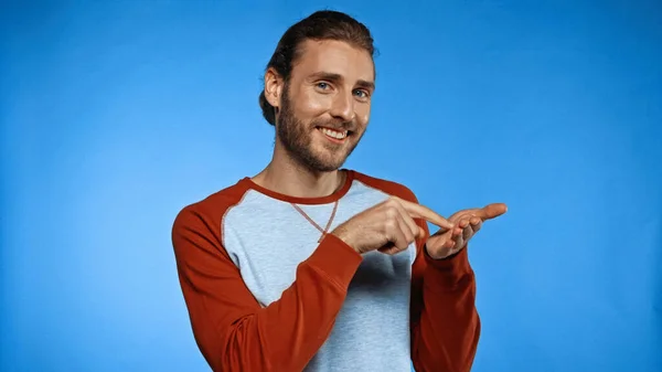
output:
POLYGON ((296 198, 328 196, 342 187, 344 171, 316 172, 285 152, 274 151, 271 162, 253 181, 263 188, 296 198))

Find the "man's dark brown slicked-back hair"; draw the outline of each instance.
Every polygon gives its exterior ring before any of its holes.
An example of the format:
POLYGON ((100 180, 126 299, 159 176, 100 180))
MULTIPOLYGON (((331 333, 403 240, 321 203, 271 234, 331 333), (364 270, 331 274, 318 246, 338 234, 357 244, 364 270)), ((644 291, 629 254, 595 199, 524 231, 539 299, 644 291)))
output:
MULTIPOLYGON (((370 30, 352 17, 332 10, 317 11, 301 21, 292 24, 280 38, 267 70, 274 68, 285 81, 287 88, 297 59, 301 56, 301 43, 306 40, 335 40, 365 50, 374 56, 375 49, 370 30)), ((270 125, 276 124, 276 109, 265 97, 265 91, 259 94, 259 106, 263 116, 270 125)))

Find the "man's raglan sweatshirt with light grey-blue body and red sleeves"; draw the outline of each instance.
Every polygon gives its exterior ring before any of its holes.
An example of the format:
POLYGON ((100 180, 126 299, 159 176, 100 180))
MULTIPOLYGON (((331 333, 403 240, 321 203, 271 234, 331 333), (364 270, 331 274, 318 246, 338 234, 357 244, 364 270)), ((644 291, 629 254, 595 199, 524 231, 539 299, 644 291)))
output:
POLYGON ((184 208, 172 243, 211 368, 408 372, 413 362, 419 372, 470 371, 480 320, 467 249, 435 261, 419 240, 393 256, 360 255, 311 223, 323 227, 333 215, 332 231, 388 195, 417 202, 402 184, 348 170, 324 198, 244 178, 184 208))

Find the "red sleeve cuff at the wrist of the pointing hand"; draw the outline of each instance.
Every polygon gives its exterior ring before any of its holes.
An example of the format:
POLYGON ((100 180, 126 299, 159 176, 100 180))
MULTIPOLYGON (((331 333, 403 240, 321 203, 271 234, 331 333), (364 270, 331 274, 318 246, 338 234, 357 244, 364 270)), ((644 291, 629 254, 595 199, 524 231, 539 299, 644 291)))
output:
POLYGON ((318 248, 308 258, 309 265, 324 272, 331 280, 344 290, 348 289, 362 262, 363 256, 359 252, 333 234, 327 234, 318 248))

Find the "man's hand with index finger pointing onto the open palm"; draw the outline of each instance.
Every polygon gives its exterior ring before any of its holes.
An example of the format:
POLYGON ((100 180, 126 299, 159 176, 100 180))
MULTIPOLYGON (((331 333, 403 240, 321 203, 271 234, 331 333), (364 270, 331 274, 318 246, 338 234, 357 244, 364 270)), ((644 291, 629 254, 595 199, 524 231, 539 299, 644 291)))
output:
POLYGON ((338 236, 357 253, 378 249, 385 254, 396 254, 425 235, 414 219, 424 219, 441 228, 453 228, 445 217, 420 204, 391 196, 346 222, 331 234, 338 236))

